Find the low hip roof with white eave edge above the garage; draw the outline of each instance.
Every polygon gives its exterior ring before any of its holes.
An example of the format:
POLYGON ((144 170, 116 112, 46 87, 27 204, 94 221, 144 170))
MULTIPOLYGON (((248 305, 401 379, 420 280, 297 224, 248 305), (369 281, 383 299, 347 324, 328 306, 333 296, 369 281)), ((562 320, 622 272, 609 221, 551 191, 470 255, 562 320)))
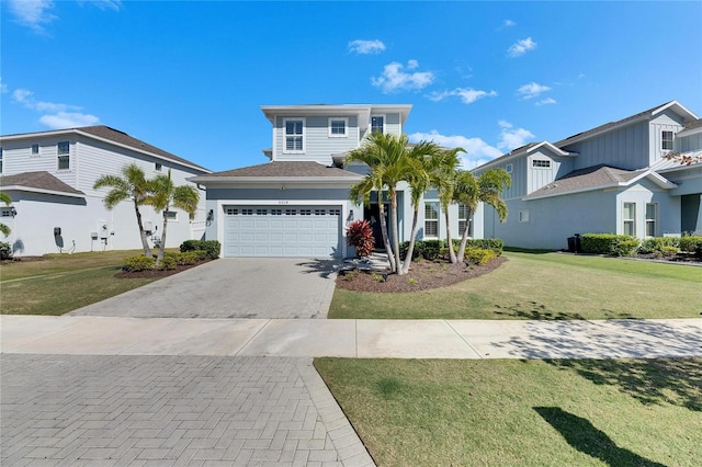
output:
POLYGON ((358 182, 361 175, 336 167, 308 161, 273 161, 241 169, 192 176, 195 183, 207 182, 358 182))

